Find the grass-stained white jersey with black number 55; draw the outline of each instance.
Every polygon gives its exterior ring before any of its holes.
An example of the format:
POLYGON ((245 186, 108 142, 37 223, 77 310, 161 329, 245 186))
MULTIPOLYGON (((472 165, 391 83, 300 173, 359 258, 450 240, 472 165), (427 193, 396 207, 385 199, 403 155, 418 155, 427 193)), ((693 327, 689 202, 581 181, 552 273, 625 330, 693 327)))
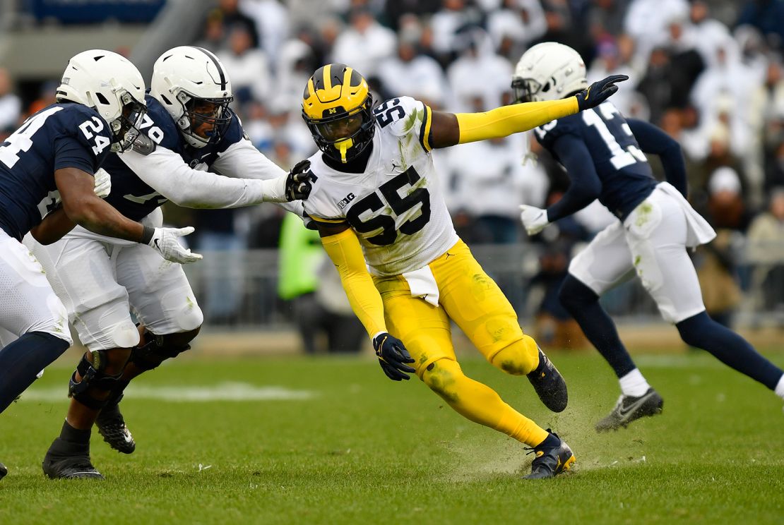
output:
POLYGON ((339 172, 310 158, 316 176, 303 201, 316 222, 348 223, 376 275, 426 266, 457 241, 430 154, 430 107, 408 96, 373 110, 376 132, 363 173, 339 172))

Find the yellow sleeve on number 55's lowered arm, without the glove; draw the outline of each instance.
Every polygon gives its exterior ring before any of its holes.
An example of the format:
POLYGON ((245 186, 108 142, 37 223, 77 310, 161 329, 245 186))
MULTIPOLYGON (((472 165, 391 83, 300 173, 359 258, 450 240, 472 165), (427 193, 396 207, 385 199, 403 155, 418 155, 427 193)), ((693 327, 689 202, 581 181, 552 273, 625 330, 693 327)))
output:
POLYGON ((359 317, 368 335, 372 337, 379 331, 387 331, 381 295, 365 266, 365 255, 362 255, 354 230, 321 237, 321 244, 324 244, 329 259, 337 267, 351 310, 359 317))

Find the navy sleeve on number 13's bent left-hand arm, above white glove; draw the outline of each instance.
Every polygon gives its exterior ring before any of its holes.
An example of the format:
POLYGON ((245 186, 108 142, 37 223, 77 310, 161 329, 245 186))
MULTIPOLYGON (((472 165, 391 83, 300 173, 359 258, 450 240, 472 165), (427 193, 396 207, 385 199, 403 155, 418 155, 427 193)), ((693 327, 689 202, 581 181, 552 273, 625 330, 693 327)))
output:
POLYGON ((553 150, 566 168, 571 183, 561 200, 547 208, 550 222, 579 212, 601 194, 601 180, 582 139, 573 135, 561 136, 553 144, 553 150))

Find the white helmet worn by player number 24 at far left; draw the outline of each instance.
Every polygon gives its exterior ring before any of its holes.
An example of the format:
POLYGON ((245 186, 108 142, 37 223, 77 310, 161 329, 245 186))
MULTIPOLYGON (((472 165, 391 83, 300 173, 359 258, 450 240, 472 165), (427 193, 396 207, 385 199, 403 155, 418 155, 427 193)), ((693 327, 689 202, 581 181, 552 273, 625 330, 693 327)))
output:
POLYGON ((104 49, 83 51, 68 60, 56 99, 95 108, 111 128, 115 152, 131 147, 147 111, 139 70, 125 56, 104 49))

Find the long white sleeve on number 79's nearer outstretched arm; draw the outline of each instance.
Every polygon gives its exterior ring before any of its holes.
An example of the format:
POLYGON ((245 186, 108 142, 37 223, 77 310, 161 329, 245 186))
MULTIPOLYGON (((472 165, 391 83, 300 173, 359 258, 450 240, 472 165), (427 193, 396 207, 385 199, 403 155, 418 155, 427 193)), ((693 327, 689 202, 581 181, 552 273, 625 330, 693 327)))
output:
POLYGON ((231 179, 202 172, 189 167, 180 155, 164 147, 157 147, 148 155, 130 150, 120 158, 144 183, 185 208, 237 208, 285 200, 285 178, 231 179))

